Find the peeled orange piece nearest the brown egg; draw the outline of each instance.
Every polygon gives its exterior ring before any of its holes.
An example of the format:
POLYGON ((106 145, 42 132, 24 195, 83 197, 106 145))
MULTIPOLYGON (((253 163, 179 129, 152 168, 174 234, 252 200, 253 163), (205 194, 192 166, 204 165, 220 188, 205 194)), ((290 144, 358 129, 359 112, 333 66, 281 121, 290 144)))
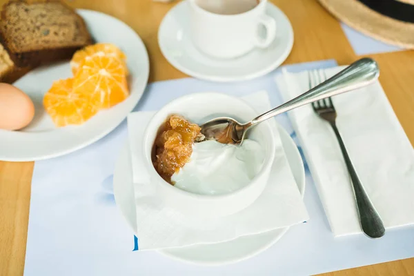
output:
POLYGON ((98 112, 87 95, 72 90, 73 79, 54 81, 43 97, 43 106, 56 126, 79 125, 98 112))

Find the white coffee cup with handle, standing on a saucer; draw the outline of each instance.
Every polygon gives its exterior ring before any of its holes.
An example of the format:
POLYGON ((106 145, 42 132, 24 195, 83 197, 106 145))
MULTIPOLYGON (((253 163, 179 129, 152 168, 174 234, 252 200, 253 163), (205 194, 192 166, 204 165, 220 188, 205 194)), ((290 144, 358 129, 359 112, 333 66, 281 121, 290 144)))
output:
POLYGON ((190 35, 206 55, 221 59, 239 57, 255 47, 267 48, 275 39, 276 21, 266 14, 267 0, 237 14, 211 12, 202 8, 199 1, 203 0, 188 0, 190 35), (266 30, 263 37, 262 30, 266 30))

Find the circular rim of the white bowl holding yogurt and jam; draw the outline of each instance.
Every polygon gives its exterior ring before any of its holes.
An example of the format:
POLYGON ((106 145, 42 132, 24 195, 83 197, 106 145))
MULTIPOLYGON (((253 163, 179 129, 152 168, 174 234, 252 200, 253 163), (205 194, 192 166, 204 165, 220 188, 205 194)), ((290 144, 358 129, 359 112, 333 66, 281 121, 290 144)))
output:
MULTIPOLYGON (((270 170, 271 166, 273 166, 273 162, 275 161, 275 151, 276 151, 276 144, 275 144, 275 139, 274 138, 268 139, 268 141, 270 143, 270 148, 272 150, 270 150, 270 151, 264 150, 265 161, 264 161, 264 164, 263 164, 262 168, 260 168, 259 172, 257 172, 255 177, 253 177, 253 179, 251 179, 250 182, 248 184, 246 184, 245 186, 243 186, 242 188, 234 190, 233 192, 230 192, 230 193, 224 193, 224 194, 219 194, 219 195, 196 194, 196 193, 191 193, 191 192, 188 192, 186 190, 181 190, 180 188, 174 187, 173 185, 171 185, 167 181, 165 181, 159 175, 157 170, 155 170, 154 166, 152 165, 151 158, 149 157, 149 159, 148 159, 147 146, 152 147, 153 144, 154 144, 154 141, 148 141, 148 138, 150 137, 149 131, 152 128, 154 128, 153 125, 155 123, 157 123, 158 117, 161 116, 160 114, 162 112, 165 112, 169 108, 171 108, 171 106, 175 106, 177 104, 177 102, 186 101, 186 100, 194 98, 194 97, 205 97, 206 95, 211 96, 211 97, 227 97, 228 99, 238 101, 239 103, 242 103, 243 105, 245 105, 246 108, 248 108, 250 110, 250 112, 253 112, 253 113, 257 114, 257 111, 254 108, 252 108, 243 99, 241 99, 239 97, 227 95, 227 94, 221 93, 221 92, 209 92, 209 91, 208 92, 194 92, 190 95, 184 95, 182 97, 178 97, 177 99, 174 99, 174 100, 170 101, 165 106, 163 106, 161 109, 159 109, 155 113, 155 115, 150 119, 150 121, 148 122, 148 126, 146 127, 146 130, 144 131, 144 141, 143 141, 143 144, 141 145, 141 146, 144 147, 144 150, 143 150, 143 152, 144 152, 144 164, 146 164, 146 167, 147 167, 148 173, 150 175, 150 178, 152 179, 152 176, 156 177, 156 179, 154 179, 154 180, 157 182, 157 184, 163 186, 166 189, 171 190, 172 193, 177 193, 179 195, 183 195, 184 197, 192 197, 194 199, 198 199, 198 200, 202 200, 202 201, 211 201, 211 200, 215 200, 215 199, 218 200, 218 199, 224 199, 224 198, 228 198, 228 197, 236 197, 237 195, 245 193, 246 190, 250 189, 251 186, 253 186, 255 183, 257 183, 257 179, 260 179, 262 177, 262 175, 264 175, 266 172, 268 172, 270 170), (148 160, 150 160, 150 161, 148 161, 148 160)), ((257 115, 259 115, 259 114, 257 114, 257 115)), ((166 118, 164 118, 164 119, 166 119, 166 118)), ((268 131, 268 136, 269 137, 274 137, 273 130, 270 128, 270 124, 268 124, 268 121, 264 121, 261 124, 265 126, 265 128, 266 128, 265 131, 268 131)), ((159 126, 157 126, 157 128, 155 128, 155 129, 158 129, 158 128, 159 128, 159 126)))

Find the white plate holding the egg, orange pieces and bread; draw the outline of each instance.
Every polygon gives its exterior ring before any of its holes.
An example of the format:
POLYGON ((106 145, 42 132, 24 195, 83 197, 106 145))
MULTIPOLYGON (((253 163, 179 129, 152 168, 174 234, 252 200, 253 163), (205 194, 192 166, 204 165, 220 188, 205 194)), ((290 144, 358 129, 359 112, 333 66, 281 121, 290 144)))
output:
POLYGON ((116 128, 141 99, 148 81, 149 61, 138 34, 107 14, 92 10, 77 12, 97 42, 114 43, 125 52, 130 72, 130 96, 117 106, 100 111, 81 126, 57 128, 43 109, 43 95, 52 86, 52 81, 72 77, 69 62, 37 68, 14 83, 34 102, 34 119, 21 131, 0 130, 0 160, 33 161, 79 150, 116 128))

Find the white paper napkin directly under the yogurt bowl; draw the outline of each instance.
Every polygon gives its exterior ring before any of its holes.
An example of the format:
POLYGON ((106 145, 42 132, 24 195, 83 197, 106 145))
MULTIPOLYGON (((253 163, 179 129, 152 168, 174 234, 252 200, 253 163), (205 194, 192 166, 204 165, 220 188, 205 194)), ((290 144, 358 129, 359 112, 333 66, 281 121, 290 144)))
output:
MULTIPOLYGON (((243 99, 258 112, 270 109, 266 91, 243 99)), ((217 219, 185 217, 172 206, 166 206, 155 193, 154 185, 140 181, 143 173, 139 162, 142 136, 153 114, 154 112, 134 112, 128 116, 139 250, 224 242, 243 235, 292 226, 308 219, 308 213, 284 155, 275 121, 271 121, 271 124, 277 151, 270 172, 270 181, 263 194, 252 205, 235 215, 217 219)))

